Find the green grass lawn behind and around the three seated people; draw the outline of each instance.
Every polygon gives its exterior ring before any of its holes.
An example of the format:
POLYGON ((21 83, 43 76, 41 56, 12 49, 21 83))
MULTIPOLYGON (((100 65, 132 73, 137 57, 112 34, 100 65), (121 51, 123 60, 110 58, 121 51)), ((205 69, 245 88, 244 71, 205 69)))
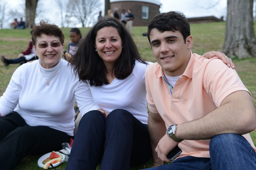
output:
MULTIPOLYGON (((86 35, 89 28, 80 28, 82 36, 86 35)), ((68 45, 70 38, 68 32, 70 28, 63 28, 66 38, 65 45, 68 45)), ((141 56, 147 61, 155 62, 152 54, 148 38, 142 36, 146 32, 146 27, 133 27, 134 41, 140 51, 141 56)), ((193 53, 203 54, 207 51, 221 51, 225 37, 225 22, 208 23, 208 24, 191 24, 191 35, 194 38, 192 47, 193 53)), ((24 51, 30 41, 30 30, 0 30, 0 55, 6 58, 16 58, 21 51, 24 51)), ((252 94, 254 106, 256 106, 256 58, 233 59, 236 65, 236 71, 242 79, 244 85, 252 94)), ((12 64, 4 67, 0 62, 0 96, 4 93, 12 73, 18 67, 18 64, 12 64)), ((254 144, 256 144, 256 130, 250 133, 254 144)), ((20 162, 16 170, 40 170, 37 166, 37 160, 41 155, 27 156, 20 162)), ((131 170, 148 168, 152 165, 152 161, 140 167, 131 168, 131 170)), ((57 166, 64 169, 66 162, 57 166)), ((99 169, 99 167, 97 168, 99 169)))

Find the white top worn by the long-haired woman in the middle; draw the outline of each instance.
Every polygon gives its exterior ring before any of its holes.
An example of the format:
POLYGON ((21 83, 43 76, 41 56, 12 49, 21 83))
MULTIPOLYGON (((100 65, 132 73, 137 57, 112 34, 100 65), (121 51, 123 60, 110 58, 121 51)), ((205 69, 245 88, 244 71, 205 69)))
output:
POLYGON ((115 78, 109 85, 100 87, 90 87, 87 84, 87 91, 90 89, 96 105, 104 111, 111 112, 114 109, 125 109, 143 124, 148 124, 146 68, 146 64, 136 61, 132 74, 126 79, 115 78))

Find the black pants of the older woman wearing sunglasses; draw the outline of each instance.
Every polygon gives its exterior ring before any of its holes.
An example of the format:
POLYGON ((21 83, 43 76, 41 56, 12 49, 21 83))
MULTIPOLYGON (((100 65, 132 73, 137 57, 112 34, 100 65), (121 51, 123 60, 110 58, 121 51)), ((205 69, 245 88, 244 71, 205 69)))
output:
POLYGON ((29 154, 59 151, 70 136, 46 126, 31 127, 16 112, 0 117, 0 170, 12 170, 29 154))

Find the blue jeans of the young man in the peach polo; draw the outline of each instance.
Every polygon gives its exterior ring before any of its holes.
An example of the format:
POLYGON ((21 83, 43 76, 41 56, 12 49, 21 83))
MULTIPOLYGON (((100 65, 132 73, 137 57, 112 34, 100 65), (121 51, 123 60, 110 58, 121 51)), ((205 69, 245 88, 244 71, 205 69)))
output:
POLYGON ((150 170, 256 170, 256 152, 239 134, 219 134, 210 140, 210 158, 185 156, 150 170))

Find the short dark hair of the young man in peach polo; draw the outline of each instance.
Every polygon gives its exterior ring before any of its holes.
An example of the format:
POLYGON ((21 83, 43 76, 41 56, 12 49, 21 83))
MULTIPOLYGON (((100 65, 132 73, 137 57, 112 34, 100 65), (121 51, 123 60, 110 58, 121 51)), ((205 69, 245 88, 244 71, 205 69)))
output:
POLYGON ((150 32, 154 28, 156 28, 159 32, 180 31, 185 43, 186 38, 190 36, 190 25, 188 23, 188 20, 183 13, 178 11, 170 11, 158 14, 148 23, 147 35, 149 43, 150 32))

